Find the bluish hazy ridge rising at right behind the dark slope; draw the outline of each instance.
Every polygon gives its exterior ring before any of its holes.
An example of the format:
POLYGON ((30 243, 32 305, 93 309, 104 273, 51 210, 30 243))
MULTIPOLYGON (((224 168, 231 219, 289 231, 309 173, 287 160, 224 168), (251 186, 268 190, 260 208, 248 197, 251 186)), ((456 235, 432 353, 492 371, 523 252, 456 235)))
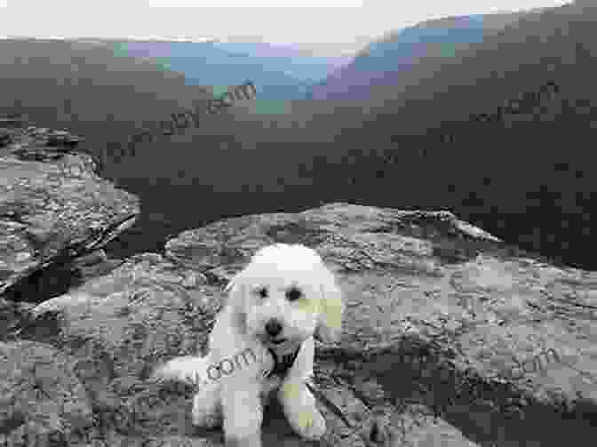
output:
POLYGON ((526 12, 470 15, 427 20, 388 33, 357 53, 354 61, 315 83, 307 98, 367 99, 374 85, 400 84, 400 76, 420 60, 452 58, 470 44, 519 20, 526 12))

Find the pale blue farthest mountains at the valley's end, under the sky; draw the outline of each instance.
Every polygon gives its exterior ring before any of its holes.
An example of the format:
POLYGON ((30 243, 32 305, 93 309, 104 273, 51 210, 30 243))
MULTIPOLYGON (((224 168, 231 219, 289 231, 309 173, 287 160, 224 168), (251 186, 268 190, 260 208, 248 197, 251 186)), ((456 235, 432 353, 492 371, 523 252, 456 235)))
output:
POLYGON ((261 42, 103 42, 118 56, 147 58, 180 73, 188 84, 213 85, 216 94, 250 80, 258 88, 258 100, 303 99, 309 85, 352 60, 261 42))

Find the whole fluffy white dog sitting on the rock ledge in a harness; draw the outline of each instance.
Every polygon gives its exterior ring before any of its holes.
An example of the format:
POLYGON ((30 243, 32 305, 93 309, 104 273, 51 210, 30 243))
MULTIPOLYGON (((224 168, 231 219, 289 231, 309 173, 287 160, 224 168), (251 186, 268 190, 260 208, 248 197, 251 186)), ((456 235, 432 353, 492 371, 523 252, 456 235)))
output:
POLYGON ((209 354, 173 359, 155 377, 197 384, 193 423, 223 423, 227 447, 261 446, 271 391, 299 435, 321 438, 325 420, 305 384, 313 375, 314 334, 338 341, 344 305, 334 275, 315 251, 277 243, 259 250, 225 290, 209 354))

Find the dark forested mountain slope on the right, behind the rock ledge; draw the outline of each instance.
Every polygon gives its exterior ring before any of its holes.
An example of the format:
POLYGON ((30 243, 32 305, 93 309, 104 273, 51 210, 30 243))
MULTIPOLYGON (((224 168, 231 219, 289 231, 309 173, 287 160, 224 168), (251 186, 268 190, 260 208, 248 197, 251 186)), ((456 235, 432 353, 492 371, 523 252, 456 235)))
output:
POLYGON ((310 169, 363 202, 448 207, 597 269, 595 23, 594 4, 530 12, 454 57, 418 60, 366 99, 348 90, 348 100, 297 105, 303 134, 335 134, 311 145, 326 159, 310 169), (557 92, 541 93, 550 82, 557 92))

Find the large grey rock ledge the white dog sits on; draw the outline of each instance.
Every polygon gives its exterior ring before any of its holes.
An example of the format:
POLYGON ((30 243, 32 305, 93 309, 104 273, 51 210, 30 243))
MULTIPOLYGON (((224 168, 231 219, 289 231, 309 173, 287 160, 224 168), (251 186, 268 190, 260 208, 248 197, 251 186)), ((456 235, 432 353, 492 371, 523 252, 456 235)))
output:
MULTIPOLYGON (((322 445, 560 447, 570 434, 593 443, 597 273, 553 266, 450 212, 352 204, 189 230, 164 256, 133 256, 30 308, 0 346, 0 400, 19 409, 0 413, 0 433, 221 445, 221 431, 190 424, 190 389, 148 377, 174 356, 205 353, 224 284, 276 242, 314 248, 346 294, 342 339, 316 349, 322 445), (556 361, 537 362, 547 349, 556 361), (512 373, 528 361, 534 371, 512 373), (42 392, 44 411, 28 410, 26 396, 42 392)), ((266 447, 308 445, 277 405, 264 420, 266 447)))

